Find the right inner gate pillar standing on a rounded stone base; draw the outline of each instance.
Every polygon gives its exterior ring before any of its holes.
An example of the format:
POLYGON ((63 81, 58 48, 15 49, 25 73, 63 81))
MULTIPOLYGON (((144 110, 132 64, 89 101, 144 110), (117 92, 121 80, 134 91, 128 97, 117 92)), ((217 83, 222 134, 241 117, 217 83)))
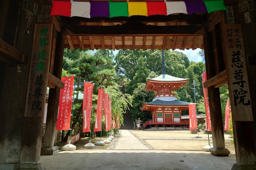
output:
MULTIPOLYGON (((222 58, 222 49, 219 43, 219 22, 221 21, 220 14, 220 11, 213 13, 211 15, 211 20, 208 21, 208 26, 205 27, 204 54, 207 80, 213 78, 224 69, 224 64, 222 63, 222 60, 220 60, 220 58, 222 58)), ((227 156, 230 154, 230 151, 225 148, 219 87, 220 86, 208 86, 207 88, 213 137, 213 148, 210 149, 210 152, 214 155, 227 156)))

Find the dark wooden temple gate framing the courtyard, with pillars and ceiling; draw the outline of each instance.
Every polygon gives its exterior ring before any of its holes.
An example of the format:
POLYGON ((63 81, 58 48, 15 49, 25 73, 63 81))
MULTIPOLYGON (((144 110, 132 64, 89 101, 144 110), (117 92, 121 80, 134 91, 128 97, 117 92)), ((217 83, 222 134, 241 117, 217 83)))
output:
POLYGON ((50 92, 42 152, 56 151, 55 103, 63 87, 60 77, 64 47, 204 48, 204 87, 208 88, 214 146, 211 152, 228 153, 219 96, 219 87, 228 84, 236 149, 233 169, 256 169, 256 6, 251 0, 224 0, 224 4, 228 6, 227 12, 82 19, 50 17, 52 4, 47 0, 0 1, 0 169, 40 169, 46 87, 50 87, 50 92), (106 26, 109 27, 105 29, 106 26), (230 30, 238 36, 227 35, 230 30), (233 47, 232 38, 241 46, 233 47), (42 56, 44 52, 47 55, 42 56), (35 61, 44 66, 38 72, 35 61), (43 83, 37 84, 36 78, 43 78, 43 83), (33 88, 39 87, 40 94, 31 94, 33 88))

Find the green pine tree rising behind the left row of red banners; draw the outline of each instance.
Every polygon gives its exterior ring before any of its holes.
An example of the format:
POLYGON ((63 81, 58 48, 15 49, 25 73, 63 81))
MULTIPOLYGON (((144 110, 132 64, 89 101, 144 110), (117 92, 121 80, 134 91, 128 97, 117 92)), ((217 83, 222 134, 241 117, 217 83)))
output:
MULTIPOLYGON (((69 50, 67 50, 69 51, 69 50)), ((73 54, 72 52, 69 52, 73 54)), ((81 55, 77 55, 78 58, 72 57, 66 57, 69 58, 71 64, 66 64, 68 67, 68 72, 70 74, 79 74, 79 77, 81 77, 81 80, 86 80, 95 83, 94 85, 94 94, 97 94, 97 89, 99 86, 101 87, 107 87, 107 86, 114 86, 116 85, 116 82, 114 81, 116 78, 116 72, 114 69, 107 69, 108 67, 111 68, 111 65, 108 63, 107 56, 102 57, 99 55, 99 53, 96 52, 96 55, 92 56, 90 53, 84 53, 84 51, 75 51, 74 53, 78 53, 81 55), (76 64, 74 64, 76 63, 76 64), (75 66, 73 68, 69 68, 71 66, 75 66), (105 68, 105 69, 103 69, 105 68)), ((67 52, 68 54, 68 52, 67 52)), ((104 54, 104 53, 103 53, 104 54)), ((106 54, 108 54, 106 52, 106 54)), ((109 56, 109 55, 108 55, 109 56)), ((112 64, 113 66, 113 64, 112 64)), ((83 92, 83 86, 79 88, 79 84, 75 89, 76 91, 83 92)), ((95 100, 95 98, 94 98, 95 100)), ((82 100, 74 100, 74 109, 73 109, 73 124, 72 129, 75 127, 75 125, 78 123, 79 125, 82 125, 83 119, 82 119, 82 100)), ((96 108, 95 106, 93 106, 96 108)), ((68 134, 65 136, 64 140, 68 137, 68 134)))

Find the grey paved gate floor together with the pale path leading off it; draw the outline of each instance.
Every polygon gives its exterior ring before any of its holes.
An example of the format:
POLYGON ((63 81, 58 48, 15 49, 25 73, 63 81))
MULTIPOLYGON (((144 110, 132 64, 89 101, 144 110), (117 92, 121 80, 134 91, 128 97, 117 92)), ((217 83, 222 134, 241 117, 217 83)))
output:
POLYGON ((231 170, 236 163, 233 154, 217 157, 204 151, 150 150, 128 130, 121 131, 116 148, 59 151, 41 155, 40 163, 46 170, 231 170))

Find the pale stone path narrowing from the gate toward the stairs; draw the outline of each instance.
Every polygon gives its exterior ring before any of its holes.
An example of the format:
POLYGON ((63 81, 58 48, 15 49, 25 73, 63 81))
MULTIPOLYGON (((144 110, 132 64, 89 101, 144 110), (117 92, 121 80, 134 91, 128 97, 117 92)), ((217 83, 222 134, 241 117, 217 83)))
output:
POLYGON ((121 137, 118 138, 116 147, 114 149, 149 149, 142 142, 140 142, 128 130, 121 130, 121 137))

